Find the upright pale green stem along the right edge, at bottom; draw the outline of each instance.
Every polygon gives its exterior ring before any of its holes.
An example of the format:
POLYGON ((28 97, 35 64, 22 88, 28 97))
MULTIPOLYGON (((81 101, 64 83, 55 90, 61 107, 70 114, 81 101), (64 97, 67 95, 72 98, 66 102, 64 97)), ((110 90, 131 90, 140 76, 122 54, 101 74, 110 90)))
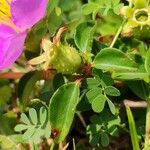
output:
POLYGON ((145 144, 144 150, 150 149, 150 100, 147 103, 147 112, 146 112, 146 133, 145 133, 145 144))

